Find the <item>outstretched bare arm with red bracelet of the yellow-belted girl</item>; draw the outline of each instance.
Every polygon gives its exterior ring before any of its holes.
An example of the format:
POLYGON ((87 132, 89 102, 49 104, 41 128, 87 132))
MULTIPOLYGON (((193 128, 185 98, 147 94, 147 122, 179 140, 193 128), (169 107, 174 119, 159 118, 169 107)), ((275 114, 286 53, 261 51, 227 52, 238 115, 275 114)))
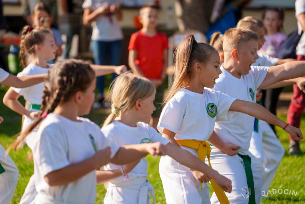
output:
MULTIPOLYGON (((251 115, 253 117, 256 117, 260 120, 264 120, 267 123, 276 125, 280 128, 284 128, 286 126, 286 122, 282 121, 279 119, 277 116, 273 115, 270 113, 266 108, 263 106, 253 103, 253 102, 248 102, 248 101, 243 101, 243 100, 235 100, 229 111, 237 111, 237 112, 242 112, 248 115, 251 115)), ((296 141, 301 141, 303 139, 302 132, 299 128, 295 128, 291 125, 288 125, 285 128, 285 131, 288 132, 296 141)))

